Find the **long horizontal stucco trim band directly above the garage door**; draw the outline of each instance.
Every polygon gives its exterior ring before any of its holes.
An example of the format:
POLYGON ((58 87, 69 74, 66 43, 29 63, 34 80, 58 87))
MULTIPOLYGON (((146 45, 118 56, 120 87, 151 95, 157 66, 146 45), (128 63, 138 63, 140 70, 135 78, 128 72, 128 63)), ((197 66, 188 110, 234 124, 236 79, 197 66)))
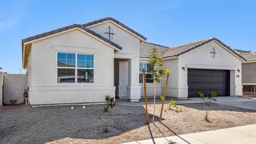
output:
POLYGON ((235 66, 203 65, 203 64, 186 64, 187 68, 193 69, 214 69, 214 70, 236 70, 235 66))

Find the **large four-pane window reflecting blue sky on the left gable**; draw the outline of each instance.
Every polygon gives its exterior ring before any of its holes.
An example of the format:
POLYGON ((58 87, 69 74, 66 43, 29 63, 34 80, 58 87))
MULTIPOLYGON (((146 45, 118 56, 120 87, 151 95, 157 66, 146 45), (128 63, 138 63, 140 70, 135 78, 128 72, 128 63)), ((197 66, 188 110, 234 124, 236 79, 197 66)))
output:
POLYGON ((58 83, 94 83, 94 54, 58 52, 58 83))

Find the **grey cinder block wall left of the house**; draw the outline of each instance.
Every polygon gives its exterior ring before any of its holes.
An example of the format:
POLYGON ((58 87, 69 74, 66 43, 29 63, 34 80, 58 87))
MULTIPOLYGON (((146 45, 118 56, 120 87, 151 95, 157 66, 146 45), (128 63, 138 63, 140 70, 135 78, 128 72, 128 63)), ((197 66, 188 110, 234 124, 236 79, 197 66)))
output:
POLYGON ((24 102, 24 89, 27 87, 27 75, 3 75, 3 103, 10 104, 10 100, 17 100, 17 104, 24 102))

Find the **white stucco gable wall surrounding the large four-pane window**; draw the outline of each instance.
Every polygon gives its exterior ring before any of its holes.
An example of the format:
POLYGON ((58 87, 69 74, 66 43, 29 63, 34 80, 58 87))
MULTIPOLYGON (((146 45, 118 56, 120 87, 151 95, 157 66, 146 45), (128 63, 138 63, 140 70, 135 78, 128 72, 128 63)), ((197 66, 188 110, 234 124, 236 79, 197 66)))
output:
POLYGON ((32 105, 103 102, 105 95, 115 96, 114 49, 78 29, 32 43, 30 59, 32 105), (94 84, 58 84, 56 48, 83 53, 96 49, 94 84))

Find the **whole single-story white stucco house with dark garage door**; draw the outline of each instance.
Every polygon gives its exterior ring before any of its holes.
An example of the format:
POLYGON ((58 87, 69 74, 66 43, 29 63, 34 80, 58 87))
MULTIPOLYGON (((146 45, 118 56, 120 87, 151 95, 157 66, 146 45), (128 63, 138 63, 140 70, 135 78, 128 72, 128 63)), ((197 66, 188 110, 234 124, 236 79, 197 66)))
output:
MULTIPOLYGON (((172 70, 167 96, 243 95, 241 64, 246 60, 217 38, 169 48, 146 43, 146 37, 107 17, 22 40, 30 103, 99 103, 105 95, 138 101, 144 96, 143 68, 148 96, 153 96, 147 60, 154 47, 172 70)), ((164 84, 157 85, 158 96, 164 84)))

